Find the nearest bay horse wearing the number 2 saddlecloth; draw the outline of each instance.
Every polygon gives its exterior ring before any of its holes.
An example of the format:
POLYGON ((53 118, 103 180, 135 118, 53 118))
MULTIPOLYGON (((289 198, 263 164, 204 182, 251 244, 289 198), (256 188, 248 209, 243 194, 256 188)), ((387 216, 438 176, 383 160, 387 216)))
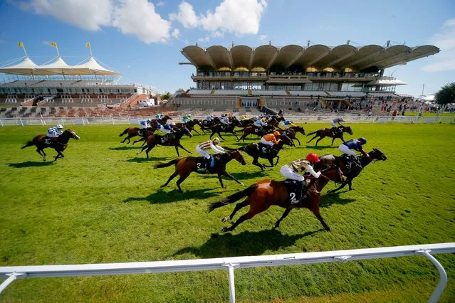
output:
POLYGON ((321 172, 323 174, 321 174, 318 179, 311 181, 310 185, 308 186, 306 198, 298 204, 291 204, 290 197, 291 194, 293 193, 288 193, 284 181, 275 181, 267 179, 256 182, 256 184, 253 184, 249 188, 246 188, 244 191, 234 193, 233 195, 227 198, 211 203, 209 206, 209 212, 213 211, 215 208, 226 206, 230 203, 239 201, 241 198, 246 196, 245 201, 237 203, 236 208, 234 208, 234 211, 231 213, 231 216, 223 218, 221 222, 231 220, 231 218, 234 217, 236 212, 245 206, 250 206, 248 213, 241 216, 236 221, 236 223, 231 225, 231 227, 223 228, 222 232, 234 230, 234 228, 236 228, 237 225, 239 225, 240 223, 244 222, 244 220, 249 220, 253 218, 258 213, 266 211, 270 206, 273 205, 286 208, 286 211, 284 211, 283 216, 281 216, 281 218, 278 221, 276 221, 275 228, 279 227, 281 220, 286 218, 286 216, 288 216, 288 213, 293 208, 305 207, 314 213, 316 218, 320 220, 320 223, 323 224, 325 230, 330 231, 330 228, 324 222, 323 217, 320 216, 319 202, 322 198, 320 196, 320 191, 322 191, 324 186, 328 184, 328 181, 330 180, 335 182, 342 181, 342 173, 340 169, 338 169, 338 167, 330 167, 326 171, 321 172))

